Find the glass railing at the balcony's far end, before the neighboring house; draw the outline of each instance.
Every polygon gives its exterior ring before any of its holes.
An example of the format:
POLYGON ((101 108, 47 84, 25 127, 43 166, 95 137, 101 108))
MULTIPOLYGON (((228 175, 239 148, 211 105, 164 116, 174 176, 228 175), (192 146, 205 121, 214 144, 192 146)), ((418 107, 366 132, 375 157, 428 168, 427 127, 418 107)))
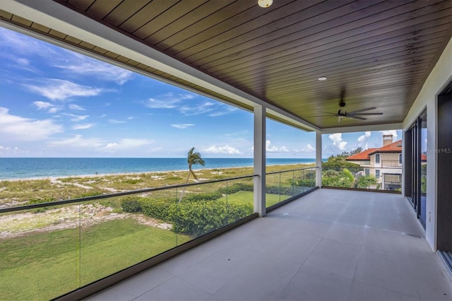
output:
POLYGON ((401 191, 402 167, 322 167, 322 187, 401 191))

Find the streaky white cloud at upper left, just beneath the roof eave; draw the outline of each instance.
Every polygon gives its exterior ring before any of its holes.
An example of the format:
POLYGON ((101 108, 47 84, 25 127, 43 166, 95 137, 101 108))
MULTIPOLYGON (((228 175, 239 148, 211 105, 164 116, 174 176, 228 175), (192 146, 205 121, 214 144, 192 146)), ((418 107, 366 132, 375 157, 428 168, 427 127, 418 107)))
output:
POLYGON ((81 74, 83 76, 91 75, 105 81, 114 81, 119 85, 126 83, 133 76, 133 73, 126 69, 121 69, 81 54, 71 54, 73 55, 68 57, 69 63, 64 61, 63 64, 59 63, 56 67, 64 69, 64 71, 69 71, 70 73, 81 74))

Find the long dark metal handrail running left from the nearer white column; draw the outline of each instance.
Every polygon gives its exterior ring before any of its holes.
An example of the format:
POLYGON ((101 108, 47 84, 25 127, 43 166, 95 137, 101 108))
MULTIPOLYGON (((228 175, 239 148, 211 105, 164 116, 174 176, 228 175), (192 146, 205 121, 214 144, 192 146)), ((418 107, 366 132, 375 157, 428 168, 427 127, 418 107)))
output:
POLYGON ((23 211, 23 210, 42 208, 42 207, 48 207, 48 206, 65 205, 68 203, 81 203, 83 201, 95 201, 97 199, 108 199, 108 198, 112 198, 115 196, 127 196, 130 194, 141 194, 144 192, 153 192, 153 191, 160 191, 160 190, 165 190, 165 189, 177 189, 180 187, 189 187, 189 186, 200 185, 200 184, 212 184, 212 183, 218 183, 218 182, 231 181, 234 179, 244 179, 244 178, 248 178, 248 177, 258 177, 258 175, 244 175, 241 177, 232 177, 232 178, 227 178, 227 179, 214 179, 211 181, 199 182, 199 183, 176 184, 176 185, 170 185, 170 186, 164 186, 164 187, 154 187, 154 188, 146 188, 146 189, 129 190, 129 191, 124 191, 124 192, 115 192, 114 194, 100 194, 98 196, 85 196, 85 197, 79 198, 79 199, 68 199, 68 200, 61 200, 61 201, 50 201, 50 202, 46 202, 46 203, 34 203, 34 204, 23 205, 23 206, 13 206, 13 207, 8 207, 8 208, 0 208, 0 213, 23 211))

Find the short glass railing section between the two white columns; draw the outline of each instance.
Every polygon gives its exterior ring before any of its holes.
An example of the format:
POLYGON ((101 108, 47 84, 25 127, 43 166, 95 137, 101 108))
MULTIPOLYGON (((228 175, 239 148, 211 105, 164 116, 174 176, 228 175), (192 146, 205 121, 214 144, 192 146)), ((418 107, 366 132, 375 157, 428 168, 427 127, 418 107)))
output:
POLYGON ((315 186, 316 167, 268 172, 266 174, 266 207, 302 194, 315 186))

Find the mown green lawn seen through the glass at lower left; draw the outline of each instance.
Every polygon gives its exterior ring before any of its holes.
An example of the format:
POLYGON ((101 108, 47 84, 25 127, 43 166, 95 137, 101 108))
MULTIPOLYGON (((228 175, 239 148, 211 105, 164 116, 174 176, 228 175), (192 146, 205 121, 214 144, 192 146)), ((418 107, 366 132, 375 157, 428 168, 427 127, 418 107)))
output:
MULTIPOLYGON (((169 230, 111 220, 0 241, 0 300, 49 300, 176 246, 169 230), (81 249, 79 249, 81 246, 81 249)), ((182 244, 190 237, 179 235, 182 244)))

